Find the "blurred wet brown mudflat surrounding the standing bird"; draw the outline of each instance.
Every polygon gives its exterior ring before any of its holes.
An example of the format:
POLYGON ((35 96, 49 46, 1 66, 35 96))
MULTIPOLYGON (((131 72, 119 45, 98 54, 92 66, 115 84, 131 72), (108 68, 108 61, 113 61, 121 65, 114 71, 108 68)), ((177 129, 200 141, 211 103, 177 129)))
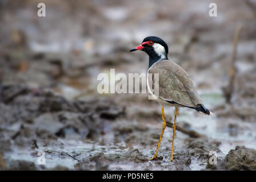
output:
MULTIPOLYGON (((0 169, 256 168, 256 1, 0 0, 0 16, 0 169), (172 164, 170 127, 159 160, 147 161, 162 129, 157 102, 97 92, 110 68, 147 72, 147 55, 129 50, 151 35, 214 113, 179 109, 172 164), (217 166, 207 164, 209 151, 217 166), (234 160, 242 151, 251 166, 234 160)), ((165 112, 173 122, 174 108, 165 112)))

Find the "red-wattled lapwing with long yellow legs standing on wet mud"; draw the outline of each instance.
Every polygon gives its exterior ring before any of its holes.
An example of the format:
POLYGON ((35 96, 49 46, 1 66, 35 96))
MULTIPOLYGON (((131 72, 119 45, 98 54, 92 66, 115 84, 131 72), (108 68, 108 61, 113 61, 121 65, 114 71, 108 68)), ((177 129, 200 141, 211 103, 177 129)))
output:
POLYGON ((163 137, 163 133, 166 128, 165 119, 165 106, 174 106, 174 124, 173 124, 173 140, 171 143, 171 158, 170 162, 173 162, 173 148, 174 138, 176 130, 176 119, 178 107, 187 107, 198 111, 204 115, 213 114, 210 110, 206 109, 202 104, 202 100, 195 89, 189 74, 177 63, 168 59, 169 48, 163 39, 157 36, 147 36, 143 39, 141 45, 130 49, 130 52, 141 50, 149 55, 149 68, 147 70, 147 89, 151 96, 154 96, 155 100, 161 106, 162 111, 162 131, 158 140, 157 150, 155 155, 149 160, 158 159, 158 150, 163 137), (158 75, 149 78, 149 74, 158 75), (158 94, 153 93, 153 86, 150 87, 149 82, 154 85, 154 90, 157 88, 158 94))

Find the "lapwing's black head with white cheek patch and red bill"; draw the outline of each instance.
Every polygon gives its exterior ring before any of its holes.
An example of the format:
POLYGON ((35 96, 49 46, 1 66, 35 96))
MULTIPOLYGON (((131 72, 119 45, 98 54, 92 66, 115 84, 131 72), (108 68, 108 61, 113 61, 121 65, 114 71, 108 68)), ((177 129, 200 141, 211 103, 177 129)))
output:
POLYGON ((161 38, 157 36, 147 36, 141 45, 133 48, 130 52, 141 50, 149 55, 150 60, 168 59, 168 46, 161 38))

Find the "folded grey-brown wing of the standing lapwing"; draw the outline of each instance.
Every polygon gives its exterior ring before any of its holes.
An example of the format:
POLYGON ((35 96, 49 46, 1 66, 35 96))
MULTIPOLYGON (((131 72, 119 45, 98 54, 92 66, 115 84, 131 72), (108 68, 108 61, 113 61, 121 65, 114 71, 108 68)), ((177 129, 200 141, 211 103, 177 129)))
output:
POLYGON ((159 73, 159 97, 164 100, 190 107, 202 104, 187 72, 173 61, 159 61, 152 65, 149 73, 159 73))

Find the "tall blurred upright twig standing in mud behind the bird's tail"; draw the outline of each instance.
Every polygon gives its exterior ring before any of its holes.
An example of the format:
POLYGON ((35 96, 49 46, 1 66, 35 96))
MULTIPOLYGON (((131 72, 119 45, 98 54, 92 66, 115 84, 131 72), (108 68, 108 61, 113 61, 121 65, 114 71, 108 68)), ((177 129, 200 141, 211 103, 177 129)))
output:
POLYGON ((231 103, 231 97, 233 95, 234 90, 234 84, 235 84, 235 75, 237 73, 237 69, 235 68, 235 60, 237 57, 237 42, 238 42, 238 36, 240 34, 240 31, 242 29, 242 26, 239 25, 237 27, 237 30, 235 31, 234 40, 233 40, 233 55, 231 60, 231 67, 229 71, 229 85, 222 88, 224 96, 226 98, 226 102, 228 104, 231 103))

